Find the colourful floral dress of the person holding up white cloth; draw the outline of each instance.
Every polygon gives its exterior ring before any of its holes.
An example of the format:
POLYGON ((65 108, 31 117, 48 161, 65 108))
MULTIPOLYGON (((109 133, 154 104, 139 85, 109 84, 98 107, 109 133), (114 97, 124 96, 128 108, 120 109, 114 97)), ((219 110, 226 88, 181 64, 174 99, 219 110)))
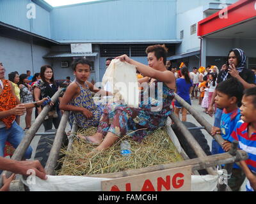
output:
POLYGON ((133 140, 141 140, 156 129, 164 126, 168 115, 172 112, 170 105, 174 98, 173 90, 157 81, 149 85, 149 89, 141 92, 139 108, 114 103, 106 105, 100 119, 97 132, 104 136, 108 132, 124 136, 127 132, 133 140), (154 92, 154 97, 149 93, 154 92), (149 94, 149 95, 148 95, 149 94))

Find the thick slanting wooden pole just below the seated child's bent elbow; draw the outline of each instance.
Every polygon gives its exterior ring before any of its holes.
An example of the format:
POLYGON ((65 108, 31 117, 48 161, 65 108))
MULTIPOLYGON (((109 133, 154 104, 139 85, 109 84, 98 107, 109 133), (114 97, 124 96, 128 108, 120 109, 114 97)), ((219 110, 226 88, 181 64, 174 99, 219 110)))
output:
POLYGON ((47 175, 54 175, 54 169, 56 168, 57 160, 60 154, 61 144, 63 141, 65 128, 67 126, 69 113, 69 111, 65 111, 61 117, 60 125, 57 129, 51 152, 47 159, 47 163, 45 164, 45 172, 47 173, 47 175))

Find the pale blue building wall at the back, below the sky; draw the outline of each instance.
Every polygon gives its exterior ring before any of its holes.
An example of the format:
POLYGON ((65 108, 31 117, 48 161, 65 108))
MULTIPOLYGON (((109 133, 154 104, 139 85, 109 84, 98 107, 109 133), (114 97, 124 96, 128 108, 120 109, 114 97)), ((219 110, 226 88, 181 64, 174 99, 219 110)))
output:
POLYGON ((54 8, 54 40, 176 39, 175 0, 119 0, 54 8))

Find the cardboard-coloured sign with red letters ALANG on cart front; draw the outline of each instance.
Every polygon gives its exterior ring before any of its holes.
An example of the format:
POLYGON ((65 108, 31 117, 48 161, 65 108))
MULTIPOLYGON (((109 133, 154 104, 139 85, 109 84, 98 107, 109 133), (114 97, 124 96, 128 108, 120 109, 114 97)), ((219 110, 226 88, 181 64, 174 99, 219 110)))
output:
POLYGON ((191 191, 191 166, 101 182, 102 191, 191 191))

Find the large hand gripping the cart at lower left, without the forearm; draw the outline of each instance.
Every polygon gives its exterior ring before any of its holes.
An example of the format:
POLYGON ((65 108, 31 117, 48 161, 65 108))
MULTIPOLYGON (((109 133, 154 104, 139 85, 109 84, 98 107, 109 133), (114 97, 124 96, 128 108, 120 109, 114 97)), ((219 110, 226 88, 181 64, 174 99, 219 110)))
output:
POLYGON ((15 161, 15 167, 11 170, 13 173, 19 173, 24 176, 28 176, 28 170, 34 170, 36 177, 46 180, 46 173, 41 163, 36 161, 15 161))

